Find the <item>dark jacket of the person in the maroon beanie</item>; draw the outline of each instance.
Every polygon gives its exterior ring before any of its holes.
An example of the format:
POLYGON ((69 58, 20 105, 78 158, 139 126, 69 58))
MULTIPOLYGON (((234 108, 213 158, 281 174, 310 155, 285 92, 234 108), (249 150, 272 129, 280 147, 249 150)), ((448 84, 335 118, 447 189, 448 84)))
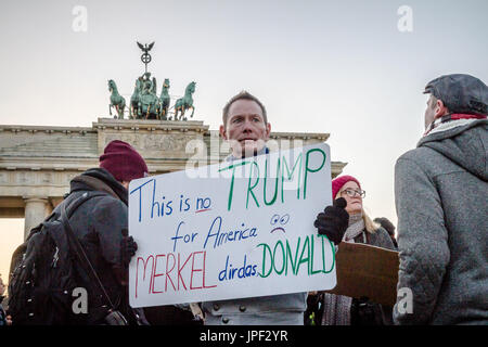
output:
MULTIPOLYGON (((128 229, 127 190, 105 169, 93 168, 70 181, 70 193, 63 204, 69 204, 85 192, 105 194, 85 202, 69 222, 112 303, 134 323, 128 304, 128 269, 121 262, 120 253, 123 230, 128 229)), ((88 292, 89 313, 81 323, 103 323, 106 300, 88 273, 80 267, 77 267, 77 272, 78 283, 86 285, 88 292)))

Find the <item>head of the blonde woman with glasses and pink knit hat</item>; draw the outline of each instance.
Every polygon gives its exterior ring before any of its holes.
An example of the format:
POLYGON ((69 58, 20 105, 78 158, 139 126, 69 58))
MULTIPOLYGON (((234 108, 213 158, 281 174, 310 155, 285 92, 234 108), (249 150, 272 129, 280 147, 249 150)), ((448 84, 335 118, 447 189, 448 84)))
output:
POLYGON ((332 197, 334 200, 344 197, 347 202, 346 211, 350 215, 361 215, 364 227, 369 232, 377 229, 363 208, 362 200, 365 197, 365 191, 361 189, 361 183, 349 175, 339 176, 332 180, 332 197))

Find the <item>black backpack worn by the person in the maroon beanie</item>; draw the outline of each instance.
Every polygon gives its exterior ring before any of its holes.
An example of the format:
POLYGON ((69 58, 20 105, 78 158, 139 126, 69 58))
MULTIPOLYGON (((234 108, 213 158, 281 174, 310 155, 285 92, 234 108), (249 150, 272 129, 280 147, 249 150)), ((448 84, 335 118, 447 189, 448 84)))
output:
MULTIPOLYGON (((67 216, 87 200, 102 194, 68 196, 67 216)), ((12 255, 9 281, 9 314, 15 325, 76 324, 82 313, 72 308, 76 297, 76 257, 61 221, 59 208, 30 230, 27 240, 12 255)))

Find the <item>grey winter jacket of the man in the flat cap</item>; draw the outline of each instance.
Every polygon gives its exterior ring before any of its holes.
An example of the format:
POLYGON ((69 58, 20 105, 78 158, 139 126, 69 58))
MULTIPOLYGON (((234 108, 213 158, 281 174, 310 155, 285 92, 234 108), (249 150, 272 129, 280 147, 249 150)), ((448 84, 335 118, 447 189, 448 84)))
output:
POLYGON ((488 323, 487 130, 431 133, 396 164, 397 324, 488 323))

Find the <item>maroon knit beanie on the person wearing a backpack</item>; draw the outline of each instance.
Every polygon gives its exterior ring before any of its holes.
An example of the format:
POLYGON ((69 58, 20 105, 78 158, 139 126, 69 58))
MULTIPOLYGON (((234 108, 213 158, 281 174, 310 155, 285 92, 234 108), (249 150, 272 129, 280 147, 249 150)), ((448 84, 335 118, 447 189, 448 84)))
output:
POLYGON ((144 177, 149 170, 142 156, 127 142, 111 141, 100 156, 100 167, 119 182, 144 177))

